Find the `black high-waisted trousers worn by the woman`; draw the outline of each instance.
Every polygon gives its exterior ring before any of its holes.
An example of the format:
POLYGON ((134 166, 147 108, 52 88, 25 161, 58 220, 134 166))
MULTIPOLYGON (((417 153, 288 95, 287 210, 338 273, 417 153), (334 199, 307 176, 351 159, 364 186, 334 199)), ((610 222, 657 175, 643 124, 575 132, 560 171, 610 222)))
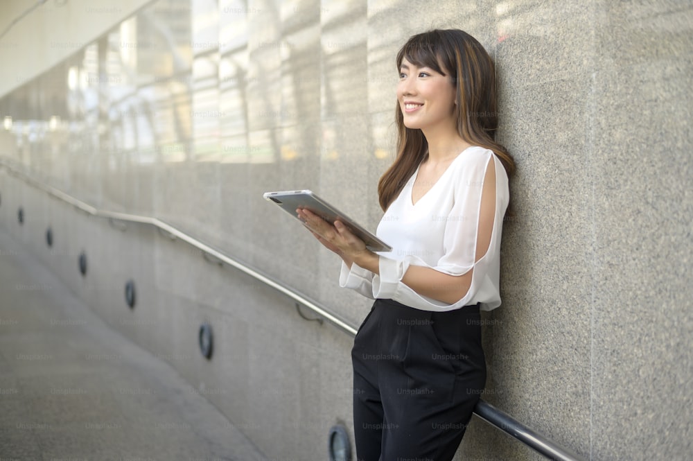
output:
POLYGON ((376 299, 351 350, 358 461, 453 459, 486 381, 479 306, 376 299))

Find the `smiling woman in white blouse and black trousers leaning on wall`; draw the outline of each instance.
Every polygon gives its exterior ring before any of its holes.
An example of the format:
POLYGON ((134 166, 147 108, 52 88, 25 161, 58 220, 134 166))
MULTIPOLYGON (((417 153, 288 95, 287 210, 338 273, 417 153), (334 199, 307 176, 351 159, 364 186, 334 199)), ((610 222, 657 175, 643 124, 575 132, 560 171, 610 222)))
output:
POLYGON ((394 250, 297 214, 342 257, 340 285, 375 299, 352 350, 358 460, 452 460, 486 380, 480 309, 500 305, 514 162, 493 140, 493 62, 471 35, 414 35, 397 67, 398 153, 376 232, 394 250))

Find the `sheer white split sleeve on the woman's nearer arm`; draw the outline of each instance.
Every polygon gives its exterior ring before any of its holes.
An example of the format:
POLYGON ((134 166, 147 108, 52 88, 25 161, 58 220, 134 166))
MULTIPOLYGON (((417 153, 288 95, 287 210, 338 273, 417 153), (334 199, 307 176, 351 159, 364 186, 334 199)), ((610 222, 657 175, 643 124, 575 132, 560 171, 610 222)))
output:
POLYGON ((502 193, 501 187, 507 189, 507 175, 495 155, 490 150, 485 152, 486 155, 473 155, 470 159, 465 159, 454 172, 454 204, 446 218, 444 255, 435 266, 428 266, 416 256, 405 256, 403 260, 380 256, 380 275, 375 275, 372 279, 374 298, 394 299, 423 310, 452 311, 470 304, 469 301, 477 293, 484 277, 491 272, 498 272, 498 258, 494 257, 494 253, 500 251, 502 218, 507 208, 507 192, 502 193), (475 261, 480 205, 487 166, 495 168, 495 214, 489 247, 484 255, 475 261), (419 295, 401 282, 410 264, 431 267, 448 275, 464 275, 473 269, 471 285, 466 295, 454 304, 419 295))

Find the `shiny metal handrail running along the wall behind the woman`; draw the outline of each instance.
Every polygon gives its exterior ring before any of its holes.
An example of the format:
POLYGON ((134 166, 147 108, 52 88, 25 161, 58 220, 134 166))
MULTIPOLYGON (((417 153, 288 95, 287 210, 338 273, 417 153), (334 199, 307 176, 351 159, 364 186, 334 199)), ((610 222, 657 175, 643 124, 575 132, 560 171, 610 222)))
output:
MULTIPOLYGON (((155 226, 161 229, 162 231, 167 232, 170 235, 180 238, 182 241, 185 241, 193 247, 199 248, 200 250, 202 250, 202 252, 204 252, 203 254, 209 254, 214 258, 218 259, 219 261, 223 261, 224 263, 227 263, 229 266, 232 266, 240 270, 241 272, 244 272, 245 274, 254 277, 259 281, 262 281, 263 283, 267 284, 267 286, 270 286, 275 290, 278 290, 281 293, 287 295, 291 299, 294 299, 297 303, 310 308, 310 310, 317 313, 318 315, 321 315, 323 318, 329 320, 331 323, 335 324, 335 326, 340 327, 342 331, 351 334, 351 336, 356 336, 356 327, 349 324, 346 320, 339 318, 339 316, 335 315, 334 313, 331 313, 327 308, 321 306, 318 302, 314 301, 313 299, 310 299, 306 295, 299 293, 299 291, 282 284, 280 281, 273 279, 269 275, 265 275, 260 270, 252 268, 247 264, 238 261, 237 259, 233 259, 231 258, 231 256, 227 256, 226 254, 214 249, 206 243, 202 243, 197 238, 194 238, 193 236, 190 236, 185 232, 182 232, 181 230, 177 229, 176 227, 173 227, 168 223, 164 223, 164 221, 161 221, 157 218, 151 218, 149 216, 138 216, 134 214, 96 209, 96 207, 92 207, 91 205, 88 205, 87 203, 82 202, 81 200, 78 200, 67 193, 64 193, 58 189, 55 189, 52 186, 48 186, 40 181, 33 179, 29 175, 26 175, 26 173, 23 173, 19 171, 17 168, 10 166, 4 159, 1 158, 0 166, 6 168, 10 175, 13 175, 15 177, 21 177, 21 179, 27 182, 28 184, 31 184, 32 186, 35 186, 37 189, 41 189, 42 191, 45 191, 46 193, 53 195, 53 197, 63 200, 64 202, 67 202, 70 205, 73 205, 73 207, 85 211, 87 214, 91 216, 98 216, 102 218, 109 218, 112 220, 115 219, 131 223, 149 224, 155 226)), ((507 413, 503 412, 502 410, 498 410, 498 408, 495 408, 490 403, 487 403, 482 399, 479 399, 477 405, 475 406, 474 414, 486 421, 487 423, 491 424, 491 426, 498 428, 499 430, 502 430, 505 433, 511 435, 511 437, 514 437, 514 439, 529 446, 530 448, 534 449, 536 452, 540 453, 541 455, 544 455, 546 458, 549 458, 550 460, 587 461, 586 458, 584 458, 583 456, 578 455, 577 453, 574 453, 569 449, 565 449, 555 444, 554 442, 552 442, 552 440, 549 440, 547 437, 534 432, 534 430, 530 428, 527 428, 527 426, 521 424, 519 421, 512 418, 510 415, 507 415, 507 413)))

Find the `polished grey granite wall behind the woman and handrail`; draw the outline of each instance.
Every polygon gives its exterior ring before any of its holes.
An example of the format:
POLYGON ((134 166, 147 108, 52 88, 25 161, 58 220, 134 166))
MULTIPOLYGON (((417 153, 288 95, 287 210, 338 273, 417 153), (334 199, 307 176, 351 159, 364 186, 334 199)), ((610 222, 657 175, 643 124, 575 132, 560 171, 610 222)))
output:
MULTIPOLYGON (((53 35, 33 37, 30 21, 50 3, 0 39, 3 68, 17 50, 46 53, 53 35)), ((89 5, 63 8, 98 17, 89 5)), ((97 207, 166 220, 353 324, 369 302, 338 287, 335 256, 262 193, 313 189, 374 229, 398 46, 430 27, 477 37, 518 166, 482 398, 593 460, 690 457, 692 2, 159 0, 98 34, 87 22, 70 39, 84 46, 43 69, 19 61, 12 78, 40 71, 20 87, 0 80, 2 158, 97 207)), ((324 459, 328 428, 351 430, 341 331, 180 242, 88 218, 6 173, 0 216, 268 457, 324 459), (202 321, 218 341, 209 362, 202 321)), ((478 419, 457 455, 540 458, 478 419)))

